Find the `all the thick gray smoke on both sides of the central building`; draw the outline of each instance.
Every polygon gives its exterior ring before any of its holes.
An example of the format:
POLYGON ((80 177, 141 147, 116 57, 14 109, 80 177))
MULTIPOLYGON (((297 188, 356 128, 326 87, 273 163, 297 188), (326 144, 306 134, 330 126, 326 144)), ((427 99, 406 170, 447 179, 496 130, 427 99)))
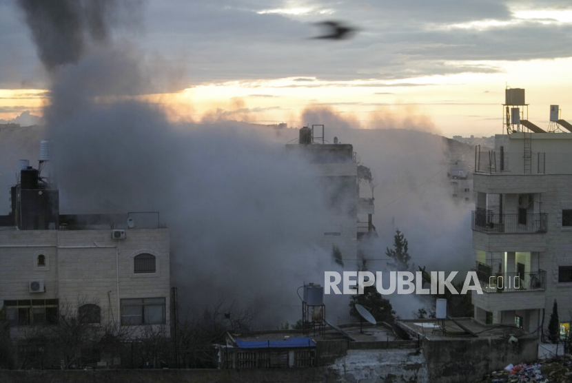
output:
MULTIPOLYGON (((285 151, 294 137, 230 122, 172 124, 159 107, 126 99, 147 89, 154 73, 132 44, 108 37, 114 2, 95 2, 101 7, 92 10, 89 2, 61 3, 54 12, 50 2, 35 8, 20 1, 52 72, 44 116, 62 212, 160 211, 170 227, 172 284, 183 310, 198 313, 222 298, 255 306, 262 324, 296 321, 296 287, 321 282, 324 271, 340 267, 331 249, 313 243, 316 231, 335 218, 323 205, 316 174, 285 151), (70 25, 60 26, 61 17, 70 17, 70 25), (106 37, 109 44, 89 43, 106 37)), ((466 211, 451 208, 445 186, 437 186, 442 179, 417 187, 442 161, 439 145, 350 130, 327 114, 306 114, 304 121, 324 123, 330 138, 354 144, 376 176, 380 239, 371 256, 385 257, 395 227, 405 232, 418 265, 445 265, 441 259, 466 250, 470 240, 458 233, 468 223, 466 211), (415 198, 398 200, 411 188, 415 198)), ((334 321, 347 315, 347 302, 347 296, 330 296, 328 315, 334 313, 334 321)))

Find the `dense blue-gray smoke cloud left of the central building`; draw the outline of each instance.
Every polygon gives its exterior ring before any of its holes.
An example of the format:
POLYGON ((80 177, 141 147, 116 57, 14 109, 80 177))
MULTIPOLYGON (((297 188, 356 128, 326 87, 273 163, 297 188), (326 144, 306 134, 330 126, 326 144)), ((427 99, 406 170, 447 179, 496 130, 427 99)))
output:
MULTIPOLYGON (((62 41, 76 32, 63 30, 62 41)), ((303 158, 266 130, 175 125, 159 107, 125 99, 150 74, 124 42, 66 54, 44 61, 48 70, 62 64, 44 110, 62 213, 160 211, 183 313, 222 299, 254 307, 263 325, 295 322, 296 288, 339 269, 331 249, 313 243, 330 218, 303 158)))

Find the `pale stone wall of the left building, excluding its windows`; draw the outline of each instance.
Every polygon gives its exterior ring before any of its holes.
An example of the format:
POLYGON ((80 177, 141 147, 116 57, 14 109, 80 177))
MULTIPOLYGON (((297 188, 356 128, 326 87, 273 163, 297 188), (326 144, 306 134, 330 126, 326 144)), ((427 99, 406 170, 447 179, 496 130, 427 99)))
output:
POLYGON ((169 232, 125 232, 127 238, 114 240, 110 230, 0 231, 0 304, 57 298, 60 307, 75 309, 78 302, 97 302, 103 323, 120 320, 123 298, 165 298, 169 323, 169 232), (156 257, 156 273, 133 273, 133 257, 141 252, 156 257), (45 254, 46 267, 37 267, 39 253, 45 254), (44 280, 45 293, 30 293, 30 280, 44 280))

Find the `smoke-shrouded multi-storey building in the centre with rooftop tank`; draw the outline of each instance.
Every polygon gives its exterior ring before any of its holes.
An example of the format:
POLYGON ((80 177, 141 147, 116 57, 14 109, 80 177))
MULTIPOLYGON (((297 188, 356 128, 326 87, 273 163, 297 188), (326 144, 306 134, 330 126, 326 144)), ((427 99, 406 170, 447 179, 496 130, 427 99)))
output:
POLYGON ((371 171, 356 161, 352 145, 338 143, 338 138, 327 143, 323 136, 323 125, 303 127, 298 143, 286 147, 306 156, 316 169, 327 191, 329 207, 336 214, 336 219, 320 230, 318 244, 325 249, 339 249, 341 258, 356 259, 358 240, 377 235, 373 223, 374 198, 371 191, 367 196, 365 188, 371 182, 371 171))

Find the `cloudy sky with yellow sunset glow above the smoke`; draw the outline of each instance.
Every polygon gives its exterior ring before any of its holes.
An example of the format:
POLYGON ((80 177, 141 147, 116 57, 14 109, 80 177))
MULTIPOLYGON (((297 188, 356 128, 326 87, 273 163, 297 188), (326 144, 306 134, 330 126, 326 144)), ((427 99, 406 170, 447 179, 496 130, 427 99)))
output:
MULTIPOLYGON (((174 121, 300 127, 303 110, 325 106, 361 128, 422 116, 445 136, 491 136, 502 133, 507 85, 526 90, 540 127, 551 104, 572 120, 570 1, 143 3, 136 28, 116 25, 114 39, 128 37, 152 85, 124 96, 159 103, 174 121), (358 32, 310 39, 329 20, 358 32)), ((0 122, 41 116, 50 74, 14 0, 0 0, 0 52, 0 122)))

